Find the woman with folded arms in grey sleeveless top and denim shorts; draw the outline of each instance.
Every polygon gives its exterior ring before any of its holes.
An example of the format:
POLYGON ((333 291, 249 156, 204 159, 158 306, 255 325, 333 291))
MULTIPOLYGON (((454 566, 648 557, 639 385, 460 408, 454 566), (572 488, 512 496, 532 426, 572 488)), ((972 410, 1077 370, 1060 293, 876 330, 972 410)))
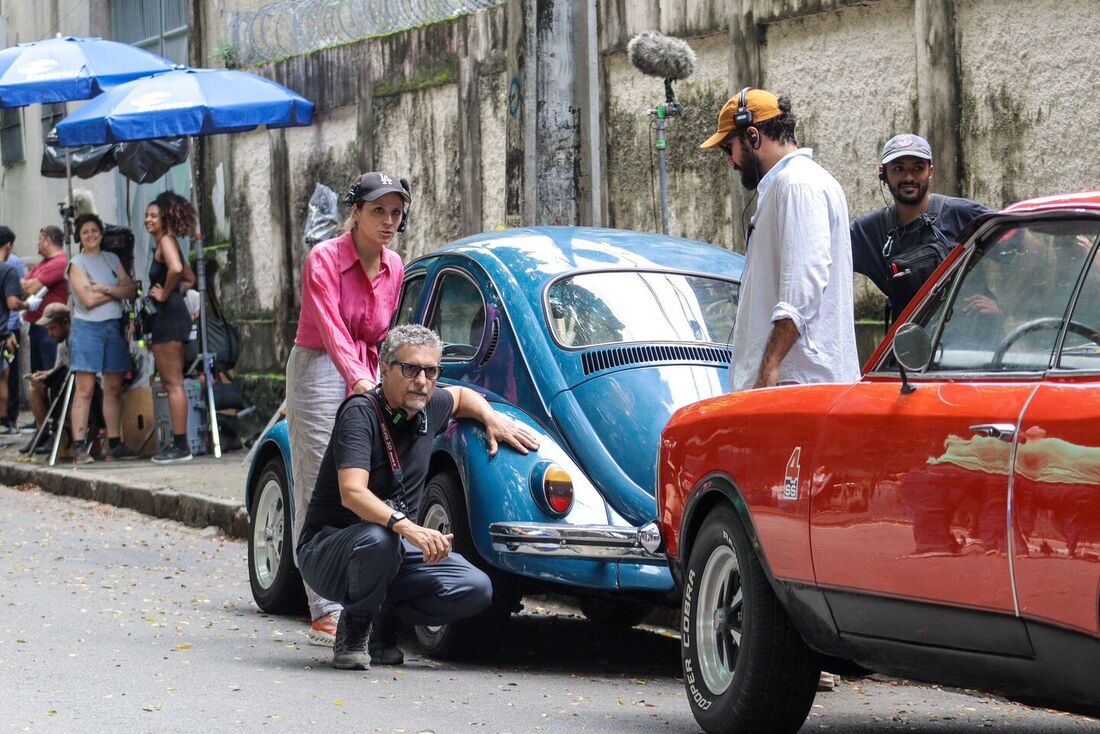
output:
POLYGON ((68 265, 73 294, 73 331, 69 369, 76 374, 73 396, 73 462, 91 463, 88 414, 96 392, 96 375, 103 375, 103 421, 108 459, 132 459, 122 442, 122 379, 130 372, 130 350, 122 336, 122 302, 134 297, 134 284, 113 252, 105 252, 103 222, 96 215, 80 215, 74 222, 80 254, 68 265))

